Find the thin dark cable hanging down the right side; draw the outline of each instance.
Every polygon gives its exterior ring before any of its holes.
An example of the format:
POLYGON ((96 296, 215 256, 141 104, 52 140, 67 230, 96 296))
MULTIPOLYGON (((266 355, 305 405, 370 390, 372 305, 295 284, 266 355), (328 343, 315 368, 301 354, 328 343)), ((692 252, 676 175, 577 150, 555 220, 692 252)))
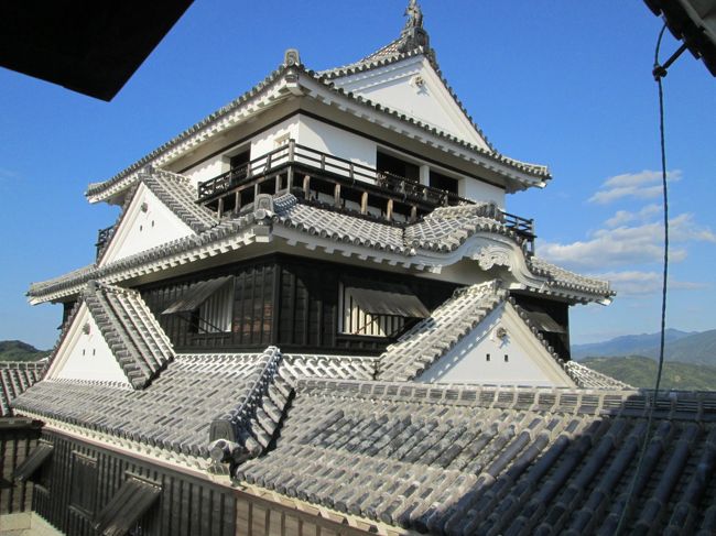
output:
MULTIPOLYGON (((659 134, 660 134, 660 145, 661 145, 661 183, 663 190, 663 203, 664 203, 664 269, 663 269, 663 282, 661 291, 661 332, 659 340, 659 367, 657 369, 657 382, 653 391, 653 400, 649 406, 649 417, 647 419, 647 430, 644 431, 644 440, 641 446, 641 452, 639 453, 639 462, 637 463, 637 471, 631 480, 629 485, 629 491, 627 492, 627 499, 619 516, 619 523, 617 524, 617 529, 615 535, 619 536, 625 529, 625 524, 627 518, 630 515, 631 503, 633 501, 633 494, 636 491, 637 480, 639 474, 642 471, 644 458, 647 455, 647 447, 649 446, 649 437, 651 436, 651 428, 653 425, 653 414, 657 406, 657 397, 659 396, 659 389, 661 386, 661 375, 664 368, 664 341, 666 332, 666 289, 668 289, 668 278, 669 278, 669 189, 666 187, 666 142, 664 135, 664 88, 662 84, 662 78, 666 76, 666 69, 664 66, 659 64, 659 51, 661 48, 661 40, 664 36, 664 31, 666 30, 666 23, 664 23, 661 32, 659 32, 659 39, 657 40, 657 50, 654 51, 654 69, 653 75, 657 84, 659 85, 659 134)), ((682 47, 683 48, 683 47, 682 47)), ((683 51, 682 51, 683 52, 683 51)), ((681 54, 681 52, 679 52, 681 54)), ((669 65, 675 59, 676 55, 668 62, 669 65)))

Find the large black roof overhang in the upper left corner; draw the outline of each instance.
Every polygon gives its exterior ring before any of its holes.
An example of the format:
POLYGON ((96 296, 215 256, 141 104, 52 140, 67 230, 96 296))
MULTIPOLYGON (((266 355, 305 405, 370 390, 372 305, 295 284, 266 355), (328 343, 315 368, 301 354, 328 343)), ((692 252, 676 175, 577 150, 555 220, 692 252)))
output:
POLYGON ((0 66, 109 101, 192 1, 0 2, 0 66))

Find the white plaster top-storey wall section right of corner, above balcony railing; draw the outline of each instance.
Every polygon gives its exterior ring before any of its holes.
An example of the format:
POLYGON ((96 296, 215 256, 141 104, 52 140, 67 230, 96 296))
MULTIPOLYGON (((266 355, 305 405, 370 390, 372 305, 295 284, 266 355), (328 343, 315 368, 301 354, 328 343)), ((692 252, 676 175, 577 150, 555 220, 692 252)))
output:
POLYGON ((297 142, 356 164, 376 167, 376 142, 306 116, 300 116, 297 142))

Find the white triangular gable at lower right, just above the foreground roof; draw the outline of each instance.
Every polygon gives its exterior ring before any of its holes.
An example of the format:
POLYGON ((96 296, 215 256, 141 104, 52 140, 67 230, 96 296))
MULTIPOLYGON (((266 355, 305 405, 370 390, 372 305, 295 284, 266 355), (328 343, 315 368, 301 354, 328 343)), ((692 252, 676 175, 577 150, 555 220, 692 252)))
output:
POLYGON ((576 386, 510 303, 490 313, 416 381, 576 386))

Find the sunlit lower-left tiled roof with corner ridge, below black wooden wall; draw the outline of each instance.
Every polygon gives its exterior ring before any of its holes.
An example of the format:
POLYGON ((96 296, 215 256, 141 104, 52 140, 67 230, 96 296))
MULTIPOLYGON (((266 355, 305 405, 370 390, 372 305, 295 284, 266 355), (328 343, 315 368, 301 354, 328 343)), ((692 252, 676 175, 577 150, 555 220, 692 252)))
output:
POLYGON ((272 439, 299 378, 369 380, 375 360, 263 353, 180 354, 142 391, 97 382, 44 380, 13 403, 119 438, 207 458, 210 439, 232 439, 253 456, 272 439), (232 437, 227 437, 232 436, 232 437))

